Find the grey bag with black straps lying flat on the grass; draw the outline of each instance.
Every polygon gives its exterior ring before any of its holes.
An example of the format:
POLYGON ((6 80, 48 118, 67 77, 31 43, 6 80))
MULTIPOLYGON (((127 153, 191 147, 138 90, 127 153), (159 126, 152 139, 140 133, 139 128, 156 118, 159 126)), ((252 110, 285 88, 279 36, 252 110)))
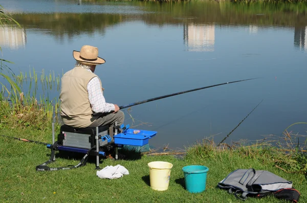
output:
POLYGON ((262 197, 281 189, 292 188, 292 182, 269 171, 251 168, 231 172, 217 186, 245 200, 249 194, 262 197))

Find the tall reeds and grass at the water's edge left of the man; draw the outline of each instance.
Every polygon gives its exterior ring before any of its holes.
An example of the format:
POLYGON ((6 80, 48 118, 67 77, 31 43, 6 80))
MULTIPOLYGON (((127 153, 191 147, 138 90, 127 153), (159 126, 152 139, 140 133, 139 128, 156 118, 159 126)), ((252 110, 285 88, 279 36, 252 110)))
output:
POLYGON ((59 99, 50 98, 51 91, 59 91, 60 75, 54 72, 40 75, 33 69, 28 73, 12 75, 10 80, 20 87, 17 94, 14 88, 2 85, 0 93, 0 118, 10 126, 32 126, 38 129, 48 125, 59 114, 59 99), (24 92, 23 92, 24 91, 24 92), (42 93, 42 94, 38 94, 42 93), (12 97, 13 95, 13 97, 12 97))

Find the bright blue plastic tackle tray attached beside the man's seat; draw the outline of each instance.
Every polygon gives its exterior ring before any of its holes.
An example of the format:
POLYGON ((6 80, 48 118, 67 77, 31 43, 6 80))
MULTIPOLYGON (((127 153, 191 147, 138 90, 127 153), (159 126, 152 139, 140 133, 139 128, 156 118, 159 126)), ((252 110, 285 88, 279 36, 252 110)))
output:
POLYGON ((157 134, 156 131, 130 129, 128 126, 124 128, 123 132, 113 136, 115 144, 144 146, 148 144, 149 139, 157 134))

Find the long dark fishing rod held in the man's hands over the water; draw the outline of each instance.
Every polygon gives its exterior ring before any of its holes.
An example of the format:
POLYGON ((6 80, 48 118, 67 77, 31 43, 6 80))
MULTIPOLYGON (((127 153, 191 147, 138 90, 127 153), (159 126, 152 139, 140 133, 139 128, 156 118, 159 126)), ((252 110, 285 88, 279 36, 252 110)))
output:
MULTIPOLYGON (((193 91, 198 91, 198 90, 200 90, 200 89, 206 89, 206 88, 215 87, 215 86, 220 86, 220 85, 224 85, 224 84, 231 84, 231 83, 235 83, 235 82, 242 82, 242 81, 254 80, 254 79, 258 79, 258 78, 250 78, 250 79, 245 79, 245 80, 237 80, 237 81, 232 81, 232 82, 224 82, 224 83, 221 83, 221 84, 214 84, 214 85, 210 85, 210 86, 205 86, 205 87, 190 89, 190 90, 183 91, 183 92, 179 92, 179 93, 173 93, 173 94, 169 94, 169 95, 164 95, 164 96, 160 96, 160 97, 155 97, 155 98, 146 99, 146 100, 143 100, 143 101, 139 101, 139 102, 135 102, 135 103, 130 103, 130 104, 127 104, 127 105, 119 106, 119 109, 128 108, 128 107, 130 107, 130 106, 135 106, 135 105, 147 103, 147 102, 150 102, 150 101, 155 101, 155 100, 163 99, 163 98, 166 98, 166 97, 172 97, 172 96, 175 96, 175 95, 181 95, 181 94, 185 94, 185 93, 189 93, 189 92, 193 92, 193 91)), ((101 113, 101 112, 95 112, 95 113, 92 114, 92 116, 93 116, 93 117, 94 117, 94 116, 99 116, 99 115, 101 115, 101 114, 103 114, 103 113, 101 113)))

